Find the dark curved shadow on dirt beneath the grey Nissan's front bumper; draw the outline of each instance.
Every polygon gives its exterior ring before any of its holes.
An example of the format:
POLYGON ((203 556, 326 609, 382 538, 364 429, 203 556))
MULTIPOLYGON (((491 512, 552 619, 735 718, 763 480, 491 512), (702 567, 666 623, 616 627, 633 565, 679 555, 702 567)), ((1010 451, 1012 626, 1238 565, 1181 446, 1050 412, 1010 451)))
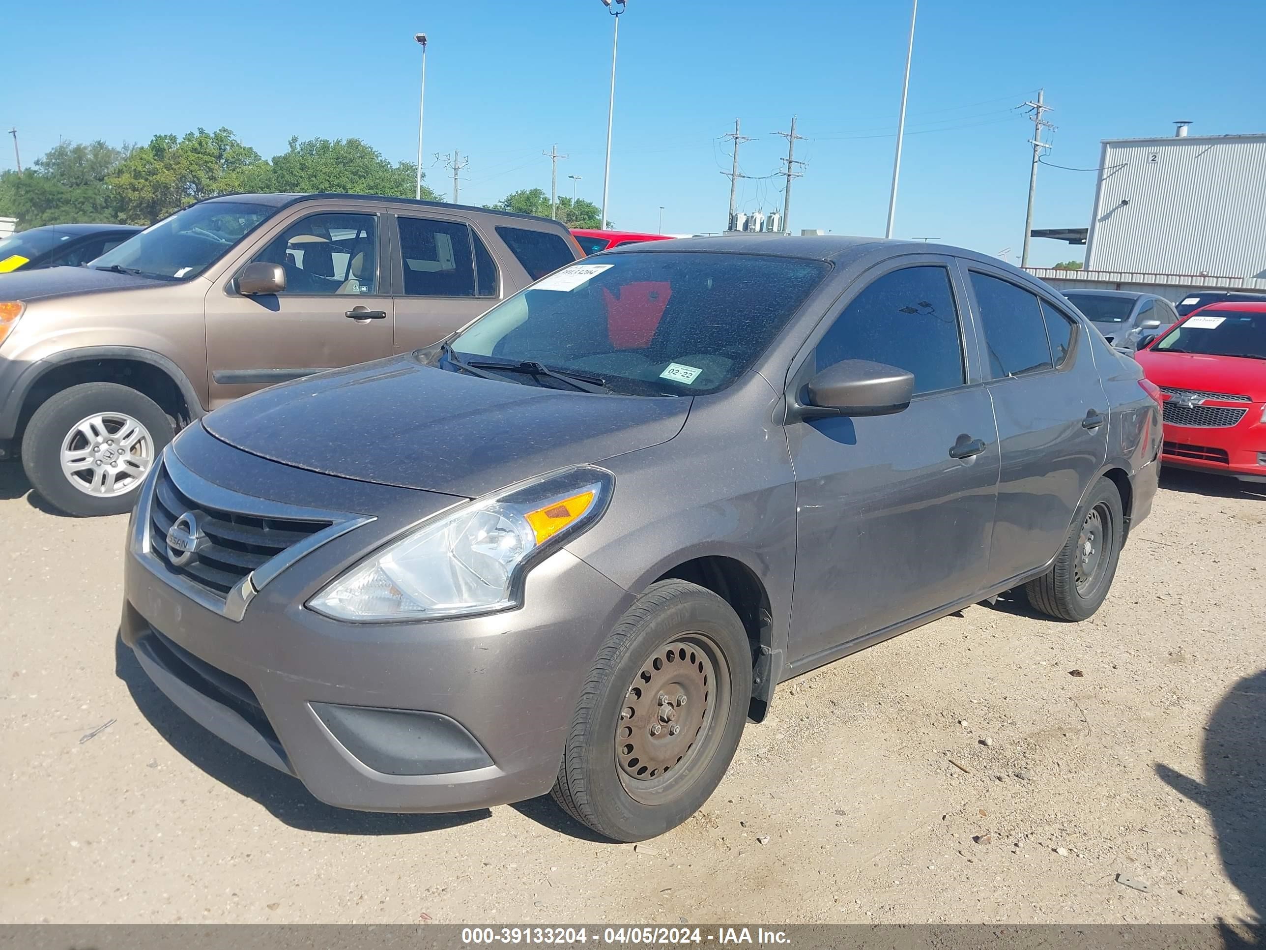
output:
POLYGON ((327 835, 413 835, 490 817, 487 808, 454 814, 352 812, 318 802, 298 780, 239 752, 190 719, 149 680, 135 654, 114 641, 114 673, 128 687, 141 713, 182 756, 234 792, 252 798, 279 821, 327 835))

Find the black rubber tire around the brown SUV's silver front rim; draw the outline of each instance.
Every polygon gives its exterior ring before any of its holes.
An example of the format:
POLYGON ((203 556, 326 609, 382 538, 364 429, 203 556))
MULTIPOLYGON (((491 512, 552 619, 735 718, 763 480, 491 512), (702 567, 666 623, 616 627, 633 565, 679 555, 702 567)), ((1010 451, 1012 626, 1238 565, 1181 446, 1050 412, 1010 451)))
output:
MULTIPOLYGON (((141 485, 141 479, 132 474, 138 471, 135 459, 148 461, 144 466, 147 470, 175 434, 176 427, 167 413, 147 395, 116 383, 81 383, 54 393, 35 409, 22 438, 22 464, 35 491, 66 514, 81 518, 122 514, 132 509, 141 485), (67 475, 62 470, 65 441, 80 422, 96 415, 106 417, 101 429, 105 437, 125 434, 119 429, 111 432, 116 424, 115 417, 141 423, 149 434, 148 445, 143 448, 144 456, 138 446, 133 450, 135 455, 129 451, 123 453, 127 459, 120 455, 120 461, 114 465, 105 462, 105 467, 115 469, 113 476, 119 479, 118 494, 89 494, 71 483, 76 478, 81 484, 89 484, 86 480, 92 478, 91 469, 85 469, 80 475, 67 475)), ((81 438, 80 442, 86 446, 82 450, 85 455, 92 451, 91 440, 81 438)))

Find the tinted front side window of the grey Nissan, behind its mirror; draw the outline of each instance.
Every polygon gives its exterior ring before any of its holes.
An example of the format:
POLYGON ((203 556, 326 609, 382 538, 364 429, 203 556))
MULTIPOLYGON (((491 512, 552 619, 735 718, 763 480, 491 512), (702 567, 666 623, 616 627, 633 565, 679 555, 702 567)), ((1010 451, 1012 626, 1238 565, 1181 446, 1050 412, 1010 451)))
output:
POLYGON ((818 370, 841 360, 909 370, 915 393, 961 386, 962 341, 950 271, 931 265, 877 277, 818 342, 818 370))

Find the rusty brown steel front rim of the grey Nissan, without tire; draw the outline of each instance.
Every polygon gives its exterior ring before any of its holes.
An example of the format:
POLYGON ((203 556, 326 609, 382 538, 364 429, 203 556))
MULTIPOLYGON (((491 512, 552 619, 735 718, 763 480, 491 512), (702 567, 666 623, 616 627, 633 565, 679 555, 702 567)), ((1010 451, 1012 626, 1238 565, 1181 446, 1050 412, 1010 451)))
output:
POLYGON ((637 802, 655 804, 690 780, 720 740, 717 709, 729 703, 729 666, 704 633, 684 633, 656 650, 625 694, 615 727, 620 783, 637 802))

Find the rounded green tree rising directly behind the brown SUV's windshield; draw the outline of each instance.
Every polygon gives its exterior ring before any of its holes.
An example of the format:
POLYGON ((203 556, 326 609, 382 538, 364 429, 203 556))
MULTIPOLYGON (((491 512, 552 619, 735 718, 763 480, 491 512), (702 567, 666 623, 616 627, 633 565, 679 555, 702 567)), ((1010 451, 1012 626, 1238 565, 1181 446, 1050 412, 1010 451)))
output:
POLYGON ((266 162, 229 129, 197 129, 177 139, 154 136, 110 175, 120 218, 149 224, 205 198, 242 191, 266 162))

